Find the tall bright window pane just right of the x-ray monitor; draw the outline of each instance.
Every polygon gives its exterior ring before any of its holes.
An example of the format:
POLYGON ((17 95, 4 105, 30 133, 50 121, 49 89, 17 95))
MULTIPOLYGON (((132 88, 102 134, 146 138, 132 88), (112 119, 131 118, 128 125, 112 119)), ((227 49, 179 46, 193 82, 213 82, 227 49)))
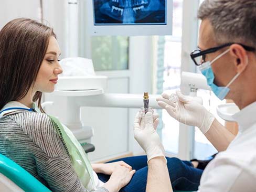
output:
MULTIPOLYGON (((165 92, 173 93, 180 86, 182 53, 182 11, 183 0, 173 1, 173 35, 165 36, 164 84, 165 92)), ((178 154, 179 122, 170 118, 163 110, 162 141, 167 153, 178 154)))

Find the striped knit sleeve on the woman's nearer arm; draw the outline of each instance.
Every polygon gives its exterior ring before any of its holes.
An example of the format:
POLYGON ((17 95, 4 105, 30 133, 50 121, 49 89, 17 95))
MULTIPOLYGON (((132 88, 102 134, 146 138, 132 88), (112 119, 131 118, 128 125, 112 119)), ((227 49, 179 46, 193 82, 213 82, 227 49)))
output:
MULTIPOLYGON (((37 146, 34 157, 38 174, 53 192, 89 192, 83 187, 72 167, 70 157, 58 133, 58 127, 48 115, 27 113, 26 129, 37 146)), ((94 192, 106 192, 99 188, 94 192)))

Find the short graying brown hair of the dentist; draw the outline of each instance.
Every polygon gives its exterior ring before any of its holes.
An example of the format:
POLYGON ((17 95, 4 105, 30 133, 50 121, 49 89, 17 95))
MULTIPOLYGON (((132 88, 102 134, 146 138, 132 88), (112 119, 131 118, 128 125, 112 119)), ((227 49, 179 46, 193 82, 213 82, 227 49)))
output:
POLYGON ((256 46, 256 0, 205 0, 198 18, 209 19, 217 43, 256 46))

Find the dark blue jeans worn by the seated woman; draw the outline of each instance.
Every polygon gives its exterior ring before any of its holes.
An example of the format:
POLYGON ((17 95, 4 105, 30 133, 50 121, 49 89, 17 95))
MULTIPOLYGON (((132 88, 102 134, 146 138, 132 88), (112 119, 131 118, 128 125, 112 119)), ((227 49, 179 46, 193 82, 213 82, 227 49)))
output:
MULTIPOLYGON (((199 186, 202 170, 194 168, 191 162, 181 161, 178 158, 167 159, 167 167, 169 177, 172 182, 173 190, 193 190, 196 191, 199 186)), ((136 170, 129 184, 123 187, 122 192, 145 192, 147 183, 147 157, 135 156, 117 159, 112 162, 124 161, 136 170)), ((109 175, 98 174, 102 182, 107 182, 110 178, 109 175)))

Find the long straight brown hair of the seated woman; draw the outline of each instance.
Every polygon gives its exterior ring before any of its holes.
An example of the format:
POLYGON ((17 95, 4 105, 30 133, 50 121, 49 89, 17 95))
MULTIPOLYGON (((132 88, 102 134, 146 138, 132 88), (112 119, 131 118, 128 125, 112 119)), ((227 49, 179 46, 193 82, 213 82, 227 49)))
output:
MULTIPOLYGON (((49 38, 56 35, 52 28, 29 18, 8 22, 0 31, 0 110, 9 101, 25 97, 34 86, 45 57, 49 38)), ((42 92, 33 101, 41 107, 42 92)))

